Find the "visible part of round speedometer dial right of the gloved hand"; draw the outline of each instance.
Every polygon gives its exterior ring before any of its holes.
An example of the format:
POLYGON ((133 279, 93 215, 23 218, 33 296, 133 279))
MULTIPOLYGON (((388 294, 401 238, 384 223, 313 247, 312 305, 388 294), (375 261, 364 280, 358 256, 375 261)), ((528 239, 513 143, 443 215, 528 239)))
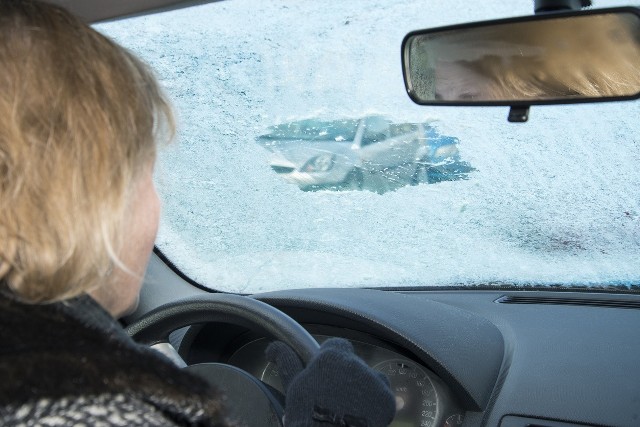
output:
POLYGON ((396 416, 390 427, 435 427, 440 415, 438 393, 420 366, 406 359, 390 359, 374 369, 389 378, 396 395, 396 416))

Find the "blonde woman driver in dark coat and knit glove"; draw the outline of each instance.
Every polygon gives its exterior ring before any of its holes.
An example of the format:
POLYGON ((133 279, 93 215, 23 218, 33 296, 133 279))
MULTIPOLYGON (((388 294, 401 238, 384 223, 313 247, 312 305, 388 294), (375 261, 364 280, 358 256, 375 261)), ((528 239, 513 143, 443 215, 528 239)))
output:
MULTIPOLYGON (((230 424, 218 392, 115 321, 137 304, 158 227, 156 144, 173 129, 131 53, 61 8, 0 1, 1 425, 230 424)), ((304 369, 281 343, 269 351, 287 426, 393 418, 388 382, 348 343, 304 369), (346 370, 359 375, 347 388, 346 370)))

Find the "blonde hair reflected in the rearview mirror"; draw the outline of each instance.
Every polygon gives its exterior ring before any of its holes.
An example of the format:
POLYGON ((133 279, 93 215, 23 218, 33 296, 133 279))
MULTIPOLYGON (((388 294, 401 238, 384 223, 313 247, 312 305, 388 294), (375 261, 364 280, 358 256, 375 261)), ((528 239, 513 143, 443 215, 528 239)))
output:
POLYGON ((492 90, 501 96, 544 99, 634 95, 640 90, 639 30, 639 21, 631 14, 587 15, 567 19, 562 26, 549 21, 533 23, 529 31, 514 32, 512 42, 527 46, 532 39, 540 41, 548 47, 544 53, 460 62, 488 78, 499 76, 493 79, 492 90), (567 41, 564 34, 573 38, 567 41), (590 55, 584 54, 585 46, 590 55), (536 62, 544 62, 544 66, 536 62), (531 71, 537 69, 545 72, 531 71))

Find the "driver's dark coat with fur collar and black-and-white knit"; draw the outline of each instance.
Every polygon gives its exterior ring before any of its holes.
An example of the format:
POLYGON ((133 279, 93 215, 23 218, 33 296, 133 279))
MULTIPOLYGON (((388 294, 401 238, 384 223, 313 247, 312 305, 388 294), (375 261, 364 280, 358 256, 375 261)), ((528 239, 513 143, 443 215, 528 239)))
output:
POLYGON ((0 425, 223 426, 220 401, 90 297, 29 305, 0 290, 0 425))

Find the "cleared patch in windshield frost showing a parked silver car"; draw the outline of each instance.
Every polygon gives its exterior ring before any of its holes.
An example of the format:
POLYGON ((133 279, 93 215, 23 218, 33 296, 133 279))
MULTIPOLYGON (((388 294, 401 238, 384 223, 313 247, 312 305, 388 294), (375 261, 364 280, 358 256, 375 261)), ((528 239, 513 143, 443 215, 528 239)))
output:
POLYGON ((269 128, 256 138, 274 172, 302 190, 372 190, 461 179, 458 139, 429 123, 393 123, 381 116, 306 119, 269 128))

